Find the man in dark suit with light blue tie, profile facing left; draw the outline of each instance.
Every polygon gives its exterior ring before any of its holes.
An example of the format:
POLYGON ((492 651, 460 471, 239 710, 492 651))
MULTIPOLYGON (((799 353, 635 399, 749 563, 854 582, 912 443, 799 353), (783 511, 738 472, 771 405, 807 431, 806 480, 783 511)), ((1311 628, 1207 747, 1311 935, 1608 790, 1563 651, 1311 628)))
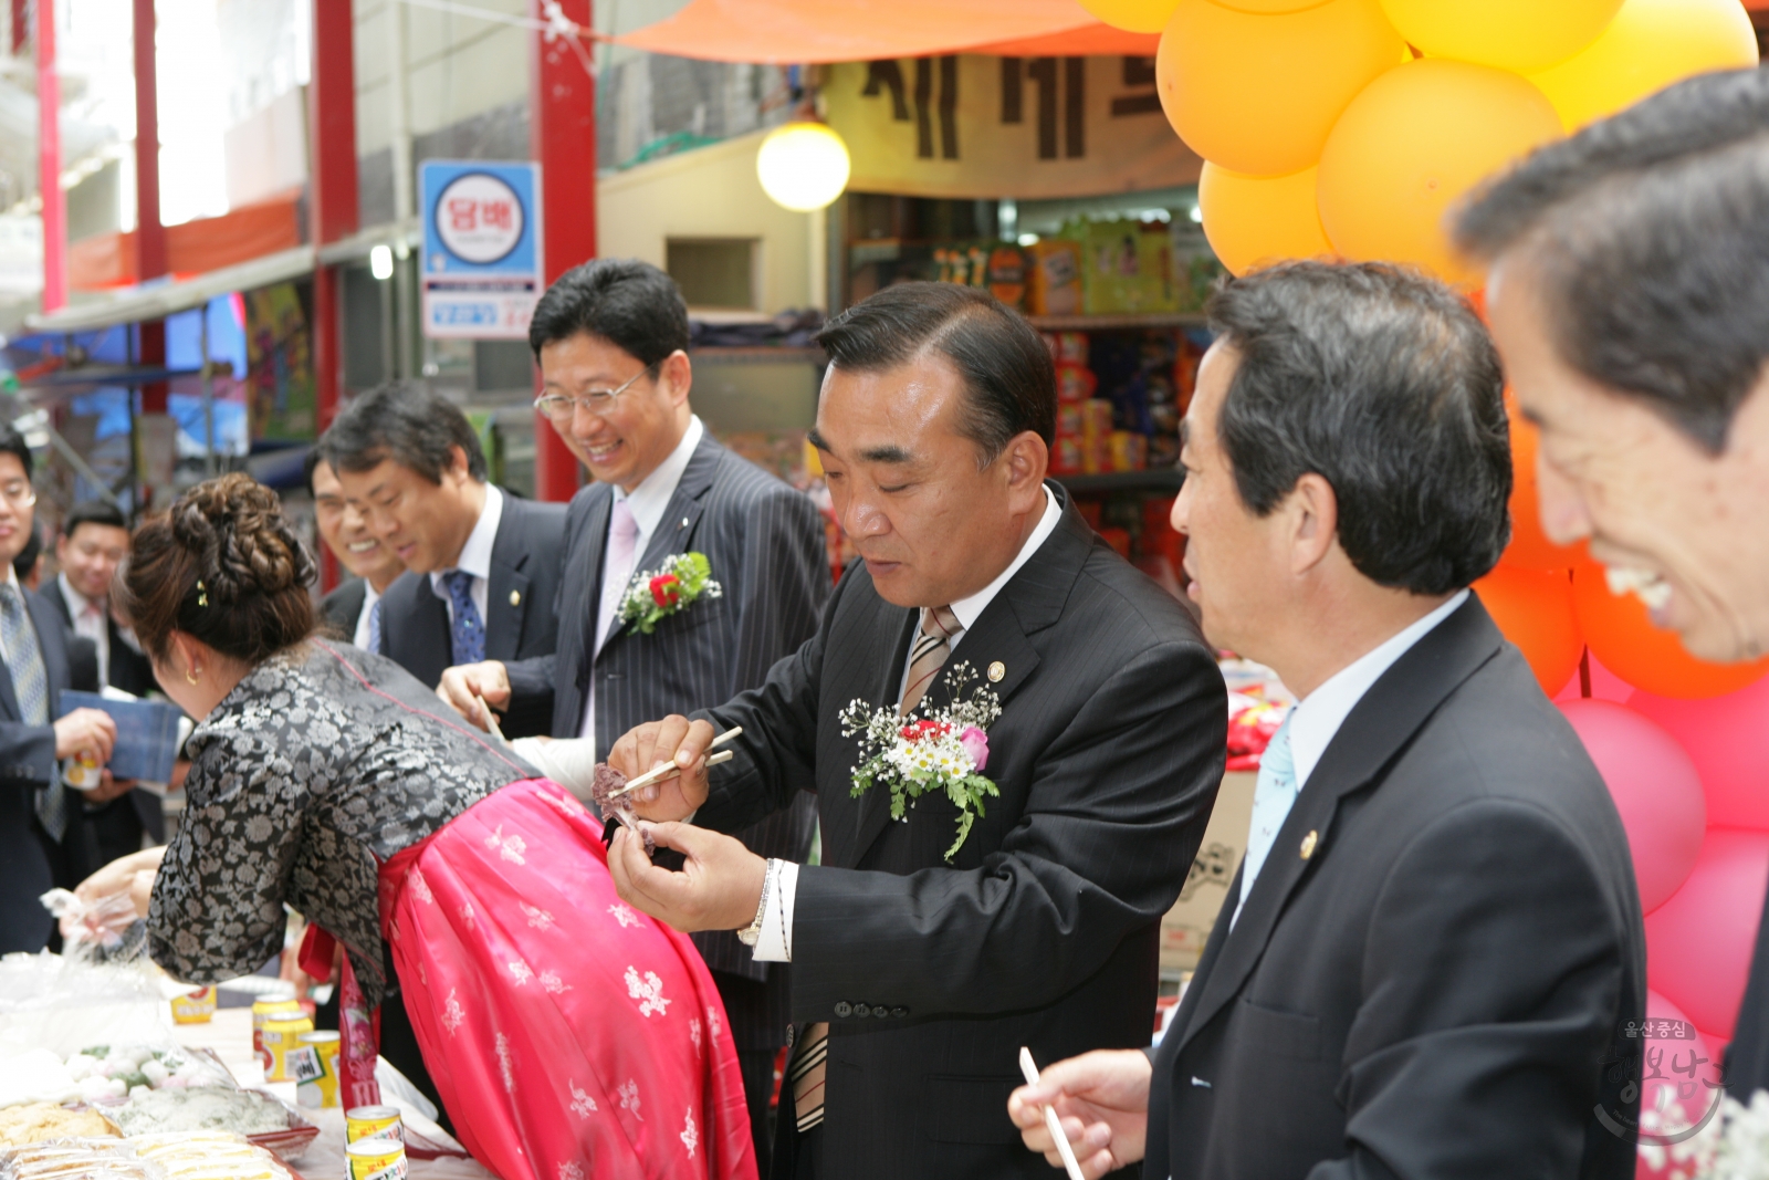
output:
POLYGON ((1627 837, 1467 589, 1509 536, 1498 356, 1383 265, 1260 271, 1212 326, 1173 524, 1210 640, 1298 704, 1159 1051, 1060 1061, 1012 1115, 1051 1152, 1054 1102, 1088 1176, 1633 1176, 1627 837))

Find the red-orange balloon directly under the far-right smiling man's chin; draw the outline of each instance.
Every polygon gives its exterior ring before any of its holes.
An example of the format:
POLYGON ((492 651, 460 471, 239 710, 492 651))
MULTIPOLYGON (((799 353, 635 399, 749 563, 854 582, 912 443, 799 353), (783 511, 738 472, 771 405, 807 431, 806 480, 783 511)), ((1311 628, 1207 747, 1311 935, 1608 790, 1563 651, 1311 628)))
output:
POLYGON ((1661 697, 1723 697, 1769 674, 1769 658, 1755 663, 1696 660, 1675 632, 1652 626, 1635 594, 1612 594, 1603 566, 1583 561, 1573 568, 1573 609, 1590 644, 1590 655, 1635 688, 1661 697))

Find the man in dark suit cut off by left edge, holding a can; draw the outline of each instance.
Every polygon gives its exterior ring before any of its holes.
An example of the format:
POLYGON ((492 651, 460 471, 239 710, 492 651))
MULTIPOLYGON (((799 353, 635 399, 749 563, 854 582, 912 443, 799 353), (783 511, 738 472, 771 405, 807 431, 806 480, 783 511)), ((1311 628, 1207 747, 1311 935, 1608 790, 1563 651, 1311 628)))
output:
MULTIPOLYGON (((37 494, 30 487, 32 455, 25 439, 0 426, 0 954, 42 950, 55 922, 37 897, 73 888, 64 837, 78 830, 81 794, 62 785, 60 764, 85 755, 103 766, 117 741, 117 724, 99 709, 74 709, 51 722, 57 699, 69 686, 67 639, 62 617, 41 594, 25 591, 12 557, 32 531, 37 494)), ((108 803, 129 784, 104 771, 85 798, 108 803)))

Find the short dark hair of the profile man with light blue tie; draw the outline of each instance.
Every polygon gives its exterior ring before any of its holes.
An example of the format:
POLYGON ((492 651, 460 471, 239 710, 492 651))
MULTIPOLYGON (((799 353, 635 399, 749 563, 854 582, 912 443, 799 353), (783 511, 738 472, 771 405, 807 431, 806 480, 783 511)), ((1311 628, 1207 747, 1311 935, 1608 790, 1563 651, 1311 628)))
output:
POLYGON ((1238 357, 1217 435, 1247 508, 1268 515, 1314 472, 1380 586, 1447 594, 1498 563, 1504 377, 1461 297, 1392 265, 1290 262, 1226 283, 1210 326, 1238 357))

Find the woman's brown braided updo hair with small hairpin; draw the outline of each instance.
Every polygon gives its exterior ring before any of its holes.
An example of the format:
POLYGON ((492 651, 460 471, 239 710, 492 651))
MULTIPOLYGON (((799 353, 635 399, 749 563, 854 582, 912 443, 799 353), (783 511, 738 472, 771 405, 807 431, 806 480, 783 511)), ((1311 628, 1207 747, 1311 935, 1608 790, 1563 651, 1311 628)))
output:
POLYGON ((276 492, 235 472, 136 529, 122 607, 154 660, 179 630, 249 665, 313 632, 313 573, 276 492))

